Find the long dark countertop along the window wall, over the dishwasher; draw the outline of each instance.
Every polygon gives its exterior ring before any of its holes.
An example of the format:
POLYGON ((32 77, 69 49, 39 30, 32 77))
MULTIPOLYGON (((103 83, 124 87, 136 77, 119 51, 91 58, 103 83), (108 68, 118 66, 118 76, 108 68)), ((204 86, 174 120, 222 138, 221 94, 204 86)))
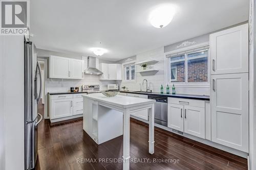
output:
POLYGON ((209 101, 209 95, 196 95, 196 94, 167 94, 159 92, 143 92, 143 91, 120 91, 125 93, 135 93, 135 94, 146 94, 146 95, 155 95, 155 96, 167 96, 169 98, 183 98, 183 99, 195 99, 195 100, 204 100, 209 101))

